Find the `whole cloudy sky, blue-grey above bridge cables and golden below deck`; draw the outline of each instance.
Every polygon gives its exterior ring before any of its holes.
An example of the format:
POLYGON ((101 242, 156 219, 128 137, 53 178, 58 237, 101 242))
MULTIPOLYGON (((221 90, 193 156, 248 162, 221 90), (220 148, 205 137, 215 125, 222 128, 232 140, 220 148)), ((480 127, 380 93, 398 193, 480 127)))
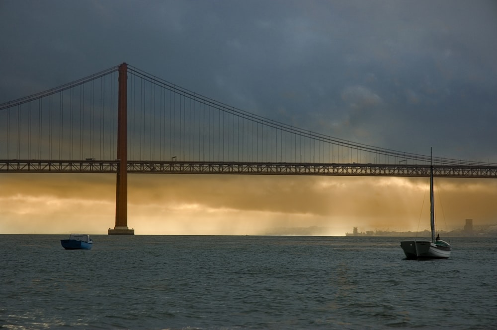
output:
MULTIPOLYGON (((305 130, 497 163, 496 1, 1 0, 0 31, 0 103, 126 62, 305 130)), ((128 181, 136 234, 429 227, 423 178, 128 181)), ((436 184, 440 229, 497 223, 495 180, 436 184)), ((0 175, 0 233, 105 234, 114 212, 115 175, 0 175)))

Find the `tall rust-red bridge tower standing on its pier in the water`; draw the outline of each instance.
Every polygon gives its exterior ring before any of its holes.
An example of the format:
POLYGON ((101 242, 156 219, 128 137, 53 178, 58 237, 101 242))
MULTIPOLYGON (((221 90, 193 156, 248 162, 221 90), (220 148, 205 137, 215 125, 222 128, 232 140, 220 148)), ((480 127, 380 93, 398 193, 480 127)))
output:
POLYGON ((117 100, 116 226, 109 235, 134 235, 128 228, 128 65, 119 66, 117 100))

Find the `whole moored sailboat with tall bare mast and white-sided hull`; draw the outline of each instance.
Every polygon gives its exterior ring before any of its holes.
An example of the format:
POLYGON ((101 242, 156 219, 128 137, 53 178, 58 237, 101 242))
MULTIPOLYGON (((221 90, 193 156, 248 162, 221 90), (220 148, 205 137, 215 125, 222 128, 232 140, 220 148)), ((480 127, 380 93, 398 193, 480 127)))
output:
POLYGON ((407 259, 448 259, 452 250, 450 244, 441 240, 439 235, 435 238, 432 155, 430 155, 430 225, 431 241, 414 239, 413 241, 401 242, 401 248, 407 259))

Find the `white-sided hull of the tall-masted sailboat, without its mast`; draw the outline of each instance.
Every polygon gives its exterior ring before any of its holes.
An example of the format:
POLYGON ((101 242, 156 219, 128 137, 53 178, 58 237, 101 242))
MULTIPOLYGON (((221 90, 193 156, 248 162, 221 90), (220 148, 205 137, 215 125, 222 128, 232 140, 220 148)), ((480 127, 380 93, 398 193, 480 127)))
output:
POLYGON ((452 250, 444 241, 438 244, 430 241, 404 241, 401 242, 401 248, 407 259, 448 259, 452 250))

